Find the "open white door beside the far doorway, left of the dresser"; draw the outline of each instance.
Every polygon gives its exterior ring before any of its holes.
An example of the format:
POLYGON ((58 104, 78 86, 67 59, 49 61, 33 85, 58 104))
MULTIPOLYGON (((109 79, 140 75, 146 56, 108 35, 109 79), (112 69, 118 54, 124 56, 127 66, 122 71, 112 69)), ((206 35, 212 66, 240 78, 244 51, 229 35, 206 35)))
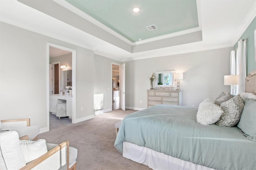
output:
POLYGON ((120 108, 125 111, 125 63, 120 65, 120 108))

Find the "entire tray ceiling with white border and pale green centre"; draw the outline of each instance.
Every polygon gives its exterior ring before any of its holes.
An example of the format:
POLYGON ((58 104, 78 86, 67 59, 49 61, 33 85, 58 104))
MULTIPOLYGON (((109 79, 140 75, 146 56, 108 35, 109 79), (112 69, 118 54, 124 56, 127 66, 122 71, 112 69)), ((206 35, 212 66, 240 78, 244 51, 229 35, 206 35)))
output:
POLYGON ((118 61, 232 47, 255 16, 255 0, 0 1, 0 21, 118 61))

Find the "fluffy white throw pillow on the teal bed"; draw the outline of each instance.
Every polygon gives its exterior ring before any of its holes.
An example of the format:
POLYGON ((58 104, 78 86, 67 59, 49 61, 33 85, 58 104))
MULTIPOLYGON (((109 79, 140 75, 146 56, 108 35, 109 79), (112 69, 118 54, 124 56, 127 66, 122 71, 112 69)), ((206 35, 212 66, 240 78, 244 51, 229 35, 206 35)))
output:
POLYGON ((202 101, 198 106, 196 121, 202 125, 210 125, 216 123, 223 111, 218 105, 215 105, 209 98, 202 101))

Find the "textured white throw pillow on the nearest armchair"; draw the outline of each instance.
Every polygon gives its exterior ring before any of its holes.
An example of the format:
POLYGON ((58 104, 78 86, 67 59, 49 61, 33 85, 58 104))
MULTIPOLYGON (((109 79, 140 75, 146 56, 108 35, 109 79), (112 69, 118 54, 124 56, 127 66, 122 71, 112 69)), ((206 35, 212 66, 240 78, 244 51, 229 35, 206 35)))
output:
POLYGON ((20 140, 20 148, 26 163, 35 160, 47 152, 46 141, 44 139, 36 141, 20 140))

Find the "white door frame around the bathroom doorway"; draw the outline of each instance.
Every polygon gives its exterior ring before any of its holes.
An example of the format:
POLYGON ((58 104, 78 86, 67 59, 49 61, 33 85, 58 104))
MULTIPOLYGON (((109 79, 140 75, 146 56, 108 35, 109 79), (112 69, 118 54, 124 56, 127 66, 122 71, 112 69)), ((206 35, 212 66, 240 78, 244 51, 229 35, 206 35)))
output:
MULTIPOLYGON (((67 47, 63 47, 60 45, 56 45, 53 43, 46 43, 46 118, 47 118, 47 131, 50 130, 50 87, 49 87, 49 63, 50 63, 50 46, 58 49, 62 49, 65 51, 72 52, 72 123, 75 123, 76 121, 76 50, 70 49, 67 47)), ((60 74, 59 74, 60 76, 60 74)))

